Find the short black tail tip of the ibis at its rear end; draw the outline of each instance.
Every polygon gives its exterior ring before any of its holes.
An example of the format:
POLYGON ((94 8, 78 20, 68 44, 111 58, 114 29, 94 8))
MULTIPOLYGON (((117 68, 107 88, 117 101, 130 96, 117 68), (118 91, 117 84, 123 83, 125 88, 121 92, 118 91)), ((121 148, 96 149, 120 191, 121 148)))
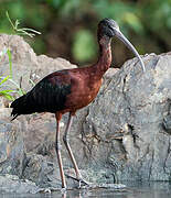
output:
MULTIPOLYGON (((11 112, 11 116, 13 117, 12 120, 14 120, 20 114, 26 114, 25 113, 25 96, 22 96, 18 99, 15 99, 12 103, 11 103, 11 108, 12 109, 12 112, 11 112)), ((11 121, 12 121, 11 120, 11 121)))

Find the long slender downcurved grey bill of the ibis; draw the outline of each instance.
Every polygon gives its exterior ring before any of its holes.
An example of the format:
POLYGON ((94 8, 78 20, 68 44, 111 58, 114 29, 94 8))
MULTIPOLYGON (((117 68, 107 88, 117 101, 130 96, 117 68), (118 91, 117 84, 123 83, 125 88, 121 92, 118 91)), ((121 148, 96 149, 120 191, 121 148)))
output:
POLYGON ((132 53, 138 57, 138 59, 140 61, 140 64, 141 64, 141 67, 142 67, 142 70, 143 73, 146 72, 146 68, 145 68, 145 64, 142 62, 142 58, 140 57, 140 55, 138 54, 138 52, 136 51, 136 48, 133 47, 133 45, 125 37, 125 35, 119 31, 119 30, 116 30, 115 31, 115 35, 120 40, 122 41, 127 47, 132 51, 132 53))

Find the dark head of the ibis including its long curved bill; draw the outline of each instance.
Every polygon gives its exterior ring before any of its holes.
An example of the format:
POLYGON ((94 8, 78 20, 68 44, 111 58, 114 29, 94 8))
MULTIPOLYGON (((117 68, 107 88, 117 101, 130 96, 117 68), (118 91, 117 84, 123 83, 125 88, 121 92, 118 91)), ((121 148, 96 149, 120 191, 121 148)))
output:
POLYGON ((125 45, 139 58, 142 70, 146 72, 143 62, 133 47, 133 45, 125 37, 125 35, 120 32, 119 25, 113 19, 104 19, 98 23, 98 40, 100 41, 101 37, 108 37, 109 40, 114 36, 118 37, 125 45))

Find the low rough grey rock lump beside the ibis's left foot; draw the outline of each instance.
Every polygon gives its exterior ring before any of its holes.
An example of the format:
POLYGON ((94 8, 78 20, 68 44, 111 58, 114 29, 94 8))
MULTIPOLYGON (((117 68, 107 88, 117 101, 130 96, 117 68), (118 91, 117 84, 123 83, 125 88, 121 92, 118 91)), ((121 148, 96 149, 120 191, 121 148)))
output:
POLYGON ((46 156, 28 153, 24 160, 22 179, 35 183, 40 188, 61 189, 58 167, 46 156))

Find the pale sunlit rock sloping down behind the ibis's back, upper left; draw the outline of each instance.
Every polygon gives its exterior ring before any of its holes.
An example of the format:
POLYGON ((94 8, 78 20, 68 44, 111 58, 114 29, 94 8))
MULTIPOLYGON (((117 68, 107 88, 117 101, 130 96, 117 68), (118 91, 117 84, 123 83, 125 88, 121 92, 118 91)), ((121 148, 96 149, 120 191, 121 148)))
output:
MULTIPOLYGON (((36 56, 30 45, 18 35, 0 34, 0 52, 4 50, 11 52, 12 79, 15 82, 8 81, 4 84, 6 89, 21 87, 24 91, 28 91, 33 86, 32 81, 38 82, 41 78, 55 70, 76 67, 63 58, 53 59, 45 55, 36 56)), ((10 67, 7 54, 0 58, 0 76, 8 76, 10 67)))

